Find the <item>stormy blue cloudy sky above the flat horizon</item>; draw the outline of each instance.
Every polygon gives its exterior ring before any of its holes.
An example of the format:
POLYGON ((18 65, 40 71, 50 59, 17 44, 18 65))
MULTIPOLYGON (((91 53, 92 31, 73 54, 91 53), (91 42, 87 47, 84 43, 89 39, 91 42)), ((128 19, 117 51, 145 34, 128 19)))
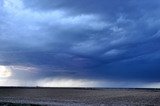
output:
POLYGON ((160 88, 159 0, 1 0, 0 86, 160 88))

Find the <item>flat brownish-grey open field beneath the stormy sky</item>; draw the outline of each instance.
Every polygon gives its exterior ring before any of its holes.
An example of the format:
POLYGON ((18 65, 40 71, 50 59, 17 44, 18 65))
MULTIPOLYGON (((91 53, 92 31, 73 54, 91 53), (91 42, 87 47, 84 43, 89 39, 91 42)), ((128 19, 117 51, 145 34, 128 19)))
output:
POLYGON ((160 89, 1 87, 0 105, 160 106, 160 89))

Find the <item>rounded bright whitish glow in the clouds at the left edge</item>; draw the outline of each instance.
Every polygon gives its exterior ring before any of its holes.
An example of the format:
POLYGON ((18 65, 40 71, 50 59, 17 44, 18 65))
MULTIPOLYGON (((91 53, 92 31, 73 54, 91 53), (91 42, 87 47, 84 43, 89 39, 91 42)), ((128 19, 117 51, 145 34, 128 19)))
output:
POLYGON ((0 78, 8 78, 12 75, 11 70, 6 66, 0 66, 0 78))

